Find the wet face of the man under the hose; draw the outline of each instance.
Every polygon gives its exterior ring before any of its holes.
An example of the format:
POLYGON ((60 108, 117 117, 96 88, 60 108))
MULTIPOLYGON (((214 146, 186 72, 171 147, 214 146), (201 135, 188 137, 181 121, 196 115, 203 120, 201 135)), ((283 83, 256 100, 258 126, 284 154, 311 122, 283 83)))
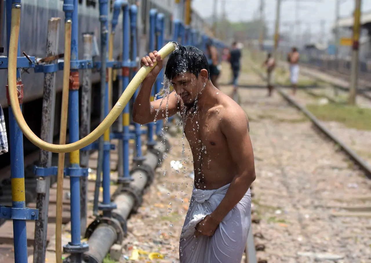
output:
MULTIPOLYGON (((207 70, 205 71, 207 72, 207 70)), ((206 80, 201 76, 201 73, 198 78, 194 74, 187 72, 184 75, 177 75, 172 79, 171 84, 174 91, 180 96, 185 105, 194 103, 198 93, 204 88, 206 80)))

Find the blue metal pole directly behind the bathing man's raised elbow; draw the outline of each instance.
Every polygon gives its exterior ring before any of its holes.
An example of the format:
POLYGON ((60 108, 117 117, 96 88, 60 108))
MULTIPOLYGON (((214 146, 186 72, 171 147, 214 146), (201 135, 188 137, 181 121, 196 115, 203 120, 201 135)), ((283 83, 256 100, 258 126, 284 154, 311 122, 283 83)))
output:
MULTIPOLYGON (((138 7, 133 4, 130 6, 129 10, 130 14, 130 34, 131 34, 131 60, 135 62, 138 56, 138 49, 137 49, 137 14, 138 14, 138 7)), ((134 75, 137 73, 136 67, 133 68, 134 75)), ((134 92, 134 98, 138 96, 138 89, 134 92)), ((136 156, 133 160, 137 163, 140 163, 145 160, 145 157, 142 155, 142 132, 141 132, 141 125, 135 123, 135 152, 136 156)))

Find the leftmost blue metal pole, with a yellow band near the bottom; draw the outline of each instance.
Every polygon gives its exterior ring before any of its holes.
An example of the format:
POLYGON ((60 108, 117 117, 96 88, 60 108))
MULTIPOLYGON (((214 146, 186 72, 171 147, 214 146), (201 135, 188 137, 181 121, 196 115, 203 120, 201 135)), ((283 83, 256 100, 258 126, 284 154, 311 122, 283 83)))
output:
MULTIPOLYGON (((6 31, 7 48, 9 56, 10 27, 13 8, 21 8, 20 0, 6 1, 6 31)), ((17 57, 20 56, 20 39, 18 40, 17 57)), ((6 87, 8 88, 8 86, 6 87)), ((18 98, 22 110, 23 85, 20 70, 17 69, 17 90, 20 91, 18 98)), ((8 92, 7 92, 8 93, 8 92)), ((24 187, 24 160, 23 160, 23 134, 14 118, 12 107, 8 98, 9 105, 9 151, 10 151, 10 173, 12 183, 12 208, 26 208, 26 196, 24 187)), ((27 262, 27 232, 26 220, 13 219, 14 237, 14 262, 27 262)))

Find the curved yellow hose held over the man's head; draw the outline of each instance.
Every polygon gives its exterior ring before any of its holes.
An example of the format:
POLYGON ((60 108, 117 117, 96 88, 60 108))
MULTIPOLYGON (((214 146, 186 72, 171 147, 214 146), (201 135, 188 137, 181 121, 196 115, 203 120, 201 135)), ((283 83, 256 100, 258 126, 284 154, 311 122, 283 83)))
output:
MULTIPOLYGON (((9 99, 10 105, 14 112, 14 118, 22 130, 24 136, 30 140, 37 147, 50 151, 50 152, 72 152, 81 149, 92 142, 96 141, 102 134, 114 123, 117 117, 120 115, 125 105, 129 102, 130 98, 138 88, 139 84, 144 78, 151 72, 157 62, 152 67, 143 66, 138 70, 138 73, 131 80, 124 93, 118 99, 112 110, 106 116, 99 126, 92 131, 88 136, 82 138, 77 142, 71 144, 50 144, 37 137, 29 128, 27 123, 24 121, 20 106, 18 104, 17 97, 17 83, 16 83, 16 71, 17 71, 17 47, 18 47, 18 34, 20 24, 20 9, 12 9, 12 25, 10 31, 10 45, 9 45, 9 65, 8 65, 8 85, 9 85, 9 99)), ((158 53, 164 58, 175 50, 175 44, 172 42, 167 43, 158 53)))

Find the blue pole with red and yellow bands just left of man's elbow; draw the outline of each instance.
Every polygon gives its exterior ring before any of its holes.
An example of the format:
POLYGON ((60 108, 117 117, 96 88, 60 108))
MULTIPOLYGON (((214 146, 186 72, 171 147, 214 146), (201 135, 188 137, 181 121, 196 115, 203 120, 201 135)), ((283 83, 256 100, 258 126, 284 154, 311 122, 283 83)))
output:
MULTIPOLYGON (((130 41, 130 23, 129 23, 129 6, 124 6, 123 10, 123 19, 122 19, 122 61, 124 63, 129 63, 130 54, 129 54, 129 41, 130 41)), ((129 65, 122 67, 122 90, 125 91, 129 85, 129 65)), ((122 139, 122 149, 124 150, 124 174, 121 178, 128 181, 130 176, 129 170, 129 139, 130 139, 130 109, 129 103, 125 106, 124 112, 122 114, 122 125, 123 125, 123 139, 122 139)))

